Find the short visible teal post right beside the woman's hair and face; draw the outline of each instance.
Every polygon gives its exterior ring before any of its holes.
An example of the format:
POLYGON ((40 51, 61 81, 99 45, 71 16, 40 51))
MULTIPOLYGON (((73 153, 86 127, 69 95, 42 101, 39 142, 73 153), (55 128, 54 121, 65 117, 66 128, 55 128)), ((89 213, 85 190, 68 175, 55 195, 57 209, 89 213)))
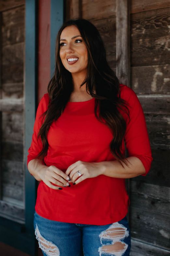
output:
POLYGON ((64 0, 51 0, 51 29, 50 29, 50 73, 55 70, 55 43, 59 28, 64 22, 64 0))

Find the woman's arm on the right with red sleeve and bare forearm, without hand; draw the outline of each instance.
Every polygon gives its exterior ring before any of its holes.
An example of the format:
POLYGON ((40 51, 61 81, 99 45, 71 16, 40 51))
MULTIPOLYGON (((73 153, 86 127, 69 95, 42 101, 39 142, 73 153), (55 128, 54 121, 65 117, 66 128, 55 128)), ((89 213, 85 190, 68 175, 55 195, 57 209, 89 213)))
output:
POLYGON ((115 178, 133 178, 139 175, 146 176, 149 172, 151 162, 151 148, 146 126, 145 115, 142 106, 135 92, 128 88, 124 88, 122 97, 129 103, 130 122, 127 121, 124 141, 128 151, 126 159, 130 162, 129 167, 123 166, 115 161, 100 162, 102 174, 115 178))

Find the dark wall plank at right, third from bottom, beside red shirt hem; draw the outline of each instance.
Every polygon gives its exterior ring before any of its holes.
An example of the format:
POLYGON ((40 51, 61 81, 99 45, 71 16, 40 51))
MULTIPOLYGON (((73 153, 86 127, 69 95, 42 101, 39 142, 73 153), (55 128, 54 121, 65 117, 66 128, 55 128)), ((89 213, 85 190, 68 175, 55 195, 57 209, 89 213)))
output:
POLYGON ((170 188, 130 179, 130 205, 154 213, 170 215, 170 188))

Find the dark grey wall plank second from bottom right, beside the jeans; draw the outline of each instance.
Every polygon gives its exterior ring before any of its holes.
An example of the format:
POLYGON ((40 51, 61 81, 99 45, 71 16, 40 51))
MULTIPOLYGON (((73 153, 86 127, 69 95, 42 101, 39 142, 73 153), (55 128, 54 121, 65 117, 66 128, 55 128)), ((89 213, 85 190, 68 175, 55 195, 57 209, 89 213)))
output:
POLYGON ((170 215, 130 207, 131 236, 154 246, 170 248, 170 215), (147 237, 146 237, 147 234, 147 237))

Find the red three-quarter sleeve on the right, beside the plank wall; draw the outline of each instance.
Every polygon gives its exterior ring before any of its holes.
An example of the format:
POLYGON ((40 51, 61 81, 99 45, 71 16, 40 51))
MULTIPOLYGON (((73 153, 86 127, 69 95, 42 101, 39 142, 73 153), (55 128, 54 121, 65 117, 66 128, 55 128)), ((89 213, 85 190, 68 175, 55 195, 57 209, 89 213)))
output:
POLYGON ((141 175, 146 176, 150 170, 153 158, 145 115, 137 95, 129 87, 127 87, 126 98, 130 105, 130 122, 129 118, 127 118, 127 128, 125 132, 126 148, 128 150, 129 157, 135 156, 140 159, 146 170, 146 173, 141 175))

